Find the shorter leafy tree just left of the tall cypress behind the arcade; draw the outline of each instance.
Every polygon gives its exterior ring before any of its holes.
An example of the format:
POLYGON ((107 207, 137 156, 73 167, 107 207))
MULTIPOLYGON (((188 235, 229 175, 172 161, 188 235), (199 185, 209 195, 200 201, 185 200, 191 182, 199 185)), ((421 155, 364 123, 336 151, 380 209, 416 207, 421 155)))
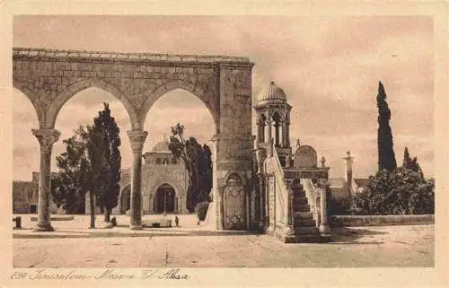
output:
POLYGON ((63 140, 66 152, 57 156, 59 172, 52 179, 51 194, 68 214, 83 213, 85 194, 91 187, 87 140, 87 131, 79 127, 75 135, 63 140))

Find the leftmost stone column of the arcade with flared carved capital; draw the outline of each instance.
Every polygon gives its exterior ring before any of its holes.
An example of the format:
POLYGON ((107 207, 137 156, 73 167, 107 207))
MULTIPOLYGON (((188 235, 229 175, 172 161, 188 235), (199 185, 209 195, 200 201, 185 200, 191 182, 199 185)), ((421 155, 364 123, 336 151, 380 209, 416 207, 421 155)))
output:
POLYGON ((50 223, 51 150, 61 133, 55 129, 33 129, 40 143, 38 223, 35 231, 53 231, 50 223))

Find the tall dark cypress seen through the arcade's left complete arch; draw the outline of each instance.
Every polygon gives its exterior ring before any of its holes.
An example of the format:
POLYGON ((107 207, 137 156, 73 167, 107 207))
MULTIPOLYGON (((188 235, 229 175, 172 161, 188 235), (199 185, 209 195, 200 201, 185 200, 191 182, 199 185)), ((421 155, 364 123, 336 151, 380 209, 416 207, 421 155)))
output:
POLYGON ((112 208, 119 204, 119 180, 121 174, 120 129, 110 115, 108 103, 99 111, 90 127, 90 159, 92 164, 92 190, 104 213, 104 221, 110 222, 112 208))

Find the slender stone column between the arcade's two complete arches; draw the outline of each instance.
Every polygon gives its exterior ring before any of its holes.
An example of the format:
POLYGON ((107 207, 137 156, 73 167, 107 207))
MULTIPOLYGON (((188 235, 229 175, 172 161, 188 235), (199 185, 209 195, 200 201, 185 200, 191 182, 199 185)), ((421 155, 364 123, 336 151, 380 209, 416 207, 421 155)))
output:
POLYGON ((129 142, 133 152, 131 169, 131 224, 129 229, 141 230, 142 226, 142 150, 148 132, 143 130, 128 131, 129 142))

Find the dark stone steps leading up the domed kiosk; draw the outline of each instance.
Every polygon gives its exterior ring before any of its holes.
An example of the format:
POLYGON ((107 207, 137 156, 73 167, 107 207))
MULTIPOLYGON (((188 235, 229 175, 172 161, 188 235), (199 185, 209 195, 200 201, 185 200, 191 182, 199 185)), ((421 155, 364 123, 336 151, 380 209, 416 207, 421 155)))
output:
POLYGON ((292 205, 295 235, 286 237, 286 243, 322 243, 330 240, 329 235, 320 234, 304 190, 294 191, 292 205))

